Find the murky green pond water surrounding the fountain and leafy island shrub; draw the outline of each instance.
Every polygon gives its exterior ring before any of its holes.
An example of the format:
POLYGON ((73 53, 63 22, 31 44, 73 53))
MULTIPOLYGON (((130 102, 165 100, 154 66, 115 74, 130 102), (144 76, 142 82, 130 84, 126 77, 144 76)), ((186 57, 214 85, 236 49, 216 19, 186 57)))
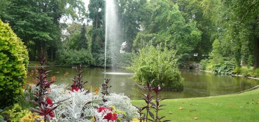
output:
MULTIPOLYGON (((64 67, 46 67, 48 70, 53 70, 49 76, 56 77, 55 84, 72 85, 71 78, 76 75, 75 69, 64 67), (67 76, 64 74, 68 72, 67 76)), ((29 68, 29 71, 35 70, 29 68)), ((83 80, 87 80, 86 86, 100 87, 104 83, 103 68, 83 68, 83 80)), ((208 97, 217 95, 226 95, 248 90, 259 85, 259 80, 248 79, 244 77, 232 77, 226 75, 213 75, 212 73, 201 72, 197 70, 180 70, 184 78, 183 91, 163 91, 161 98, 194 98, 208 97)), ((112 86, 110 93, 124 93, 131 100, 140 100, 142 90, 138 88, 133 81, 132 72, 125 69, 106 69, 106 78, 111 79, 112 86), (111 73, 115 72, 115 73, 111 73)), ((32 80, 28 78, 27 80, 32 80)))

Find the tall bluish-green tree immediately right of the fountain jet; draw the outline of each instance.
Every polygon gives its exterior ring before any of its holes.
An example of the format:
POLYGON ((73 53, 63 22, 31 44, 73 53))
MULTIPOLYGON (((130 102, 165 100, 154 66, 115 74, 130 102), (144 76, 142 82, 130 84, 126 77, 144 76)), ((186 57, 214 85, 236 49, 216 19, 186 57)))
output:
POLYGON ((145 28, 151 10, 148 8, 147 0, 117 0, 117 7, 119 24, 122 25, 123 40, 121 42, 126 41, 126 51, 131 52, 137 32, 145 28))

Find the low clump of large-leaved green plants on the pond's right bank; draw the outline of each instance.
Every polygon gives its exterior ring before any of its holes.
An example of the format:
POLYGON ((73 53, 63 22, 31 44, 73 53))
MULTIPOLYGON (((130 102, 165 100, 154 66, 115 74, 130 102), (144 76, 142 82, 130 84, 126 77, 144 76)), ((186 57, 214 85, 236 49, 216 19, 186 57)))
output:
POLYGON ((236 65, 230 61, 220 62, 213 66, 213 73, 231 75, 236 65))

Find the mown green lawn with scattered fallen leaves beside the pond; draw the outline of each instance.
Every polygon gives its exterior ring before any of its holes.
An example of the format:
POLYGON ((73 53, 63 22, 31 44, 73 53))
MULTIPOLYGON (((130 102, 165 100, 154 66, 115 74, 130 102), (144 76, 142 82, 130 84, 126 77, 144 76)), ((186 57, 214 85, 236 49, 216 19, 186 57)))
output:
MULTIPOLYGON (((132 100, 132 104, 141 106, 144 102, 132 100)), ((169 99, 161 104, 167 106, 160 115, 171 122, 259 122, 259 89, 235 95, 169 99)))

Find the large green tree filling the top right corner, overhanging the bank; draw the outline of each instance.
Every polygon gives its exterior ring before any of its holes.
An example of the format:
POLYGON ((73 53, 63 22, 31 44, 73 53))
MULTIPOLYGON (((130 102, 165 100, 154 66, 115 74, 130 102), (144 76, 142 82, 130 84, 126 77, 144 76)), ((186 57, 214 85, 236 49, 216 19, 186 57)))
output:
POLYGON ((203 0, 204 15, 215 24, 216 38, 220 40, 226 56, 240 66, 254 59, 259 67, 259 1, 255 0, 203 0))

